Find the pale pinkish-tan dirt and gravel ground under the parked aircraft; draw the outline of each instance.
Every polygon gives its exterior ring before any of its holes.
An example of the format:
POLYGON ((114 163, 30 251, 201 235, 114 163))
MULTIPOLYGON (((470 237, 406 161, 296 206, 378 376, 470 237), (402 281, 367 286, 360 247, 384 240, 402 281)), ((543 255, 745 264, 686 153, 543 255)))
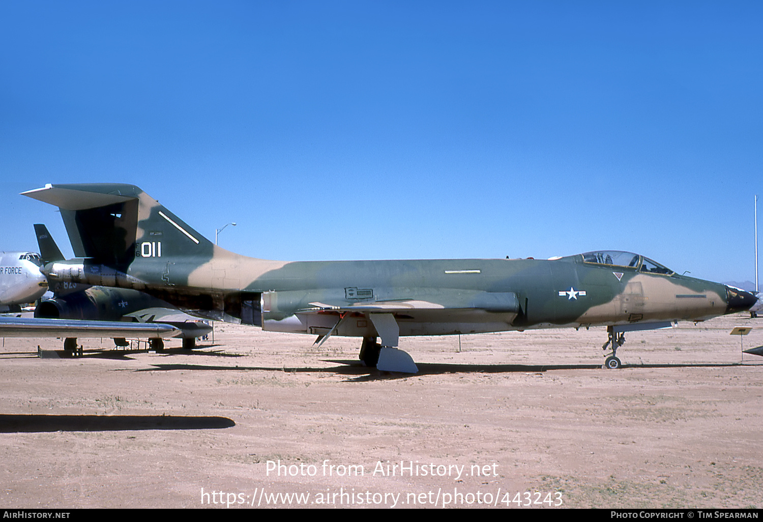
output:
POLYGON ((736 326, 763 344, 749 314, 628 333, 620 370, 604 328, 403 338, 417 375, 230 324, 192 353, 5 339, 0 505, 760 508, 763 358, 736 326))

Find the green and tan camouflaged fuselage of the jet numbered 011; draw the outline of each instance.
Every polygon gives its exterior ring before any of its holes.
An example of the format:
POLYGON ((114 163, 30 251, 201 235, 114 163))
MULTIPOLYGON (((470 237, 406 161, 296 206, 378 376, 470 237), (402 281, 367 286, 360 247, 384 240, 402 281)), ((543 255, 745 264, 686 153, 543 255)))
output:
MULTIPOLYGON (((124 272, 87 260, 55 263, 56 279, 140 288, 210 317, 266 330, 369 337, 370 313, 394 314, 400 334, 703 321, 748 310, 749 292, 678 275, 633 253, 633 266, 560 259, 438 259, 283 263, 214 249, 211 262, 137 256, 124 272), (658 271, 649 272, 652 266, 658 271)), ((586 261, 585 259, 590 259, 586 261)))

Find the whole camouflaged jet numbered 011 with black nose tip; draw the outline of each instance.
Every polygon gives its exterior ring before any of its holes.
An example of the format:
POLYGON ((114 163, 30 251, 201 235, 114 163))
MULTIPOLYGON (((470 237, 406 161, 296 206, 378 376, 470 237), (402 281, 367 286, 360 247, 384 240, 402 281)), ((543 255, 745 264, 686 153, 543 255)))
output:
POLYGON ((263 330, 362 337, 369 366, 415 372, 401 336, 606 326, 605 364, 624 332, 760 307, 751 292, 601 250, 556 259, 284 262, 214 245, 134 185, 45 185, 78 259, 51 281, 133 288, 195 315, 263 330), (377 342, 380 338, 381 342, 377 342))

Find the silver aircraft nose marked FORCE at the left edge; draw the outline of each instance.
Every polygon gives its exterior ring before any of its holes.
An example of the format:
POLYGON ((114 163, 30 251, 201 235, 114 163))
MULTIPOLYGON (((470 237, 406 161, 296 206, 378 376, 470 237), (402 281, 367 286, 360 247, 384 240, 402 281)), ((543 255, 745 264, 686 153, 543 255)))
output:
POLYGON ((0 252, 0 312, 21 311, 21 304, 34 303, 47 292, 41 264, 34 252, 0 252))

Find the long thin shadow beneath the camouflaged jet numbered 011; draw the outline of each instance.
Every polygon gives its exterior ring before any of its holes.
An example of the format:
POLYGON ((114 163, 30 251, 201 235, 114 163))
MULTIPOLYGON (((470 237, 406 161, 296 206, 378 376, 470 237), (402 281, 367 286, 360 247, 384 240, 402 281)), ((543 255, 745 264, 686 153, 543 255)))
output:
MULTIPOLYGON (((381 379, 404 379, 411 376, 422 375, 444 375, 447 373, 512 373, 512 372, 547 372, 550 370, 561 369, 602 369, 601 364, 558 364, 558 365, 532 365, 532 364, 441 364, 441 363, 427 363, 418 362, 418 373, 398 373, 398 372, 385 372, 375 368, 369 368, 363 366, 360 361, 357 360, 342 360, 342 359, 323 359, 324 362, 333 362, 339 366, 332 366, 330 368, 317 368, 317 367, 301 367, 301 368, 289 368, 288 366, 274 367, 274 366, 209 366, 209 365, 195 365, 195 364, 154 364, 152 368, 143 368, 134 370, 136 372, 156 372, 156 371, 175 371, 175 370, 207 370, 207 371, 219 371, 219 370, 236 370, 236 371, 262 371, 262 372, 285 372, 285 373, 313 373, 323 372, 347 375, 350 382, 365 382, 375 381, 381 379)), ((606 370, 607 372, 619 372, 623 369, 629 368, 718 368, 725 366, 742 366, 739 362, 728 362, 720 364, 710 363, 677 363, 677 364, 638 364, 638 365, 626 365, 624 364, 620 370, 606 370)))

